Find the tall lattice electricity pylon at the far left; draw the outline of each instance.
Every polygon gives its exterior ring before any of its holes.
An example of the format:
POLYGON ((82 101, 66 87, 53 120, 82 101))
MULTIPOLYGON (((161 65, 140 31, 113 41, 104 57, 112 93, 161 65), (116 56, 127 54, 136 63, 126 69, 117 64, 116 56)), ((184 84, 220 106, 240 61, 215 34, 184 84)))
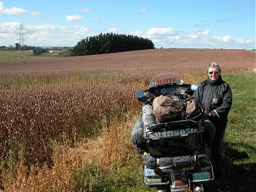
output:
POLYGON ((26 56, 26 50, 25 50, 25 41, 26 39, 26 28, 23 27, 22 24, 20 24, 20 27, 16 28, 16 36, 18 36, 18 55, 17 55, 17 62, 20 62, 20 59, 22 58, 22 61, 26 62, 27 61, 27 56, 26 56))

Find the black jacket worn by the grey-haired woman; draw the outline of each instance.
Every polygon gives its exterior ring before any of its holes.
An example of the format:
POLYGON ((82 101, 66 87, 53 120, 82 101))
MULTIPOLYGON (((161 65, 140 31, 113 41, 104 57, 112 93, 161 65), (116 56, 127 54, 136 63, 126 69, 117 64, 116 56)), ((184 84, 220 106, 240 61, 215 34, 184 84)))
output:
POLYGON ((227 82, 220 79, 213 85, 205 80, 195 90, 193 98, 212 114, 208 118, 216 129, 225 129, 228 123, 228 112, 232 105, 232 92, 227 82))

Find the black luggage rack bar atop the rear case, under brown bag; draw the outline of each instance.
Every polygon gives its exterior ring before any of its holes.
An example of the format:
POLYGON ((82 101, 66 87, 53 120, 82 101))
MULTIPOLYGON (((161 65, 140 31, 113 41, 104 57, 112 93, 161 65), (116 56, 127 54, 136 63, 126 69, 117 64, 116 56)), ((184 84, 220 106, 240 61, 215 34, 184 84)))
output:
POLYGON ((198 122, 193 121, 191 119, 185 119, 180 121, 172 121, 167 123, 157 123, 151 125, 148 130, 149 131, 167 131, 172 129, 179 129, 180 127, 189 128, 191 126, 198 126, 198 122))

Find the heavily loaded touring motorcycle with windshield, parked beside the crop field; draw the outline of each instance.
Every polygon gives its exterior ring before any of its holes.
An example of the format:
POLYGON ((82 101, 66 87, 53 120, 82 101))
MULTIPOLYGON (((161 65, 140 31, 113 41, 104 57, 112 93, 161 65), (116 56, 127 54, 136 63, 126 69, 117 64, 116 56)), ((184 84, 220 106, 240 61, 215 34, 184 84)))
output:
MULTIPOLYGON (((185 104, 198 85, 184 84, 177 74, 160 74, 150 81, 150 88, 136 93, 144 106, 152 107, 159 96, 175 97, 185 104)), ((186 109, 182 105, 182 110, 186 109)), ((182 118, 144 122, 144 183, 158 192, 203 192, 205 183, 214 179, 208 145, 202 141, 202 113, 182 118), (146 125, 146 126, 145 126, 146 125)), ((153 118, 156 118, 155 116, 153 118)))

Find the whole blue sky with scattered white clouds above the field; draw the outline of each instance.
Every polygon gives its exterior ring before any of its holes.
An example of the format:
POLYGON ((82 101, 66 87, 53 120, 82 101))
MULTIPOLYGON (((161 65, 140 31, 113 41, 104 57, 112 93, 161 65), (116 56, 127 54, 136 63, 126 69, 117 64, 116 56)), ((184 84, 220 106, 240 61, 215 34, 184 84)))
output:
POLYGON ((112 32, 150 39, 156 48, 251 50, 255 0, 0 0, 0 25, 6 47, 74 47, 112 32))

